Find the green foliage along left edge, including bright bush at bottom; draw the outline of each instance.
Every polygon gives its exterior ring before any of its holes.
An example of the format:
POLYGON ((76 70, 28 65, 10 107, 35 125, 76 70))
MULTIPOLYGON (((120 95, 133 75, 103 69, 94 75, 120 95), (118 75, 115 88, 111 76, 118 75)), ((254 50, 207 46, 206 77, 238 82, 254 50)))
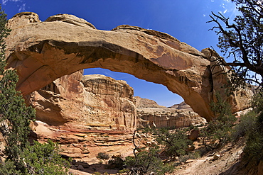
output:
POLYGON ((66 174, 69 166, 58 154, 53 142, 41 145, 28 142, 30 121, 35 111, 27 107, 23 96, 16 91, 18 75, 6 67, 6 14, 0 6, 0 131, 4 136, 6 161, 0 164, 0 174, 66 174))

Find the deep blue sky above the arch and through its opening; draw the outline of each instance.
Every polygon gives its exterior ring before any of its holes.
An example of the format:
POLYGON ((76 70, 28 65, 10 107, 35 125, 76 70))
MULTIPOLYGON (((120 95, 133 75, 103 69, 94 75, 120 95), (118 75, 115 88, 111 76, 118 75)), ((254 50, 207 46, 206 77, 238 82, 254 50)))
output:
MULTIPOLYGON (((69 13, 84 18, 100 30, 129 24, 168 33, 198 50, 213 46, 218 52, 218 36, 208 30, 214 24, 206 23, 210 21, 209 15, 211 11, 230 18, 237 14, 235 4, 230 0, 2 0, 1 4, 8 18, 21 11, 33 11, 45 21, 49 16, 69 13)), ((100 68, 85 69, 85 74, 124 79, 134 88, 134 96, 152 99, 159 105, 172 106, 183 101, 165 86, 130 74, 100 68)))

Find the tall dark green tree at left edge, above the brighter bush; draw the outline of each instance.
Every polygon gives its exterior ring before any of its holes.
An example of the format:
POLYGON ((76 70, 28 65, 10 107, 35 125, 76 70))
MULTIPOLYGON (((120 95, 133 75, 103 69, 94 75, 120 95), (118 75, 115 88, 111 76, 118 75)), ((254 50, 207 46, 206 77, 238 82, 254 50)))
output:
POLYGON ((6 28, 6 14, 0 12, 0 130, 6 140, 4 153, 7 160, 14 162, 16 169, 25 171, 21 162, 21 152, 28 143, 29 123, 35 111, 26 107, 24 100, 16 91, 18 75, 13 69, 5 70, 5 38, 9 35, 6 28))

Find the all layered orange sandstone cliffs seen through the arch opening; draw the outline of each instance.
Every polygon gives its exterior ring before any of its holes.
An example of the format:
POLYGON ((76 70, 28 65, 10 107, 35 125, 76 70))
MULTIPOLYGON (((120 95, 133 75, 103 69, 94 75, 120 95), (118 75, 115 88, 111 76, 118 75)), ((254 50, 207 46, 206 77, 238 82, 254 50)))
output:
POLYGON ((27 103, 36 108, 31 137, 60 142, 61 154, 94 163, 98 152, 132 154, 135 127, 205 123, 190 108, 166 108, 133 94, 126 81, 100 74, 82 76, 81 70, 60 77, 27 96, 27 103))

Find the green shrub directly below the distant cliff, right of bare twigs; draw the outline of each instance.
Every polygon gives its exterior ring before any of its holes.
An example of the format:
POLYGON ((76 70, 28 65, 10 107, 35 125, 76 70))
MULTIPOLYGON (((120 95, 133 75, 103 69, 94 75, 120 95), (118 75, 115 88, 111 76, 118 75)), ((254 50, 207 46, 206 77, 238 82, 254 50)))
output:
POLYGON ((169 157, 181 156, 187 153, 188 145, 193 145, 191 140, 188 140, 185 130, 173 130, 170 132, 166 128, 154 130, 157 135, 156 141, 159 145, 164 145, 164 152, 169 157))

